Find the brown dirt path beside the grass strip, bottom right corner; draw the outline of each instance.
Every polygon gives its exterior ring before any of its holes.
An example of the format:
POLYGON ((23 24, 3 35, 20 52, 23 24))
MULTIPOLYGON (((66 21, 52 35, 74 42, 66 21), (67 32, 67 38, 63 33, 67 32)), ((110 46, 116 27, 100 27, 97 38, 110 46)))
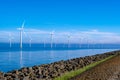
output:
POLYGON ((120 55, 70 80, 120 80, 120 55))

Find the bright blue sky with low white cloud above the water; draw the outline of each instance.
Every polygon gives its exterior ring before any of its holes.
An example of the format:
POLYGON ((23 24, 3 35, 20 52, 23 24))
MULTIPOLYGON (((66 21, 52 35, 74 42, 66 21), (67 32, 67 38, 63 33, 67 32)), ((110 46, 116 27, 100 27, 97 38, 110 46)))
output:
POLYGON ((55 37, 71 34, 73 42, 79 42, 74 38, 83 35, 92 41, 120 42, 119 4, 119 0, 0 0, 0 41, 9 37, 8 32, 18 41, 17 28, 25 21, 25 31, 34 39, 43 38, 42 35, 48 38, 54 30, 55 37))

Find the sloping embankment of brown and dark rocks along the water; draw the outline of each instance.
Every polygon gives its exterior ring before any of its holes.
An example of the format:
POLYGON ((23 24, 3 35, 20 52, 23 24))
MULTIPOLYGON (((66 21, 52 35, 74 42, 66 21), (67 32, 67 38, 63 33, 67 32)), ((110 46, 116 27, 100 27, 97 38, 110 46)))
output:
POLYGON ((53 80, 55 77, 61 76, 66 72, 80 69, 86 65, 119 53, 120 51, 113 51, 66 61, 62 60, 51 64, 24 67, 7 73, 0 72, 0 80, 53 80))

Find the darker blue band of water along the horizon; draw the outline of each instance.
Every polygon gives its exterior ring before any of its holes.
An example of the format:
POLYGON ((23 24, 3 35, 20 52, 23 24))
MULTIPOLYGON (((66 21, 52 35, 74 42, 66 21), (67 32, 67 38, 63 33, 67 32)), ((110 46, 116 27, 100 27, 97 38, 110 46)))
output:
POLYGON ((23 48, 20 48, 19 43, 12 43, 11 47, 9 43, 0 43, 0 51, 35 51, 35 50, 76 50, 76 49, 120 49, 120 44, 68 44, 53 43, 53 47, 50 47, 50 43, 33 43, 31 47, 29 43, 23 43, 23 48))

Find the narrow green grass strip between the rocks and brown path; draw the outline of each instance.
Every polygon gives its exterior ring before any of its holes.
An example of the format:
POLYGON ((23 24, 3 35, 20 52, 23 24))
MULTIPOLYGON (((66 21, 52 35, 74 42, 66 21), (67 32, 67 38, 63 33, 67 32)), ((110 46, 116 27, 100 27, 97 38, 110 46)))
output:
POLYGON ((100 64, 100 63, 102 63, 102 62, 104 62, 104 61, 106 61, 106 60, 108 60, 108 59, 110 59, 112 57, 113 56, 109 56, 109 57, 107 57, 107 58, 105 58, 103 60, 94 62, 94 63, 92 63, 90 65, 87 65, 87 66, 85 66, 83 68, 80 68, 78 70, 66 72, 65 74, 63 74, 60 77, 55 78, 54 80, 69 80, 70 78, 75 77, 75 76, 77 76, 77 75, 79 75, 79 74, 81 74, 81 73, 83 73, 83 72, 85 72, 85 71, 95 67, 96 65, 98 65, 98 64, 100 64))

